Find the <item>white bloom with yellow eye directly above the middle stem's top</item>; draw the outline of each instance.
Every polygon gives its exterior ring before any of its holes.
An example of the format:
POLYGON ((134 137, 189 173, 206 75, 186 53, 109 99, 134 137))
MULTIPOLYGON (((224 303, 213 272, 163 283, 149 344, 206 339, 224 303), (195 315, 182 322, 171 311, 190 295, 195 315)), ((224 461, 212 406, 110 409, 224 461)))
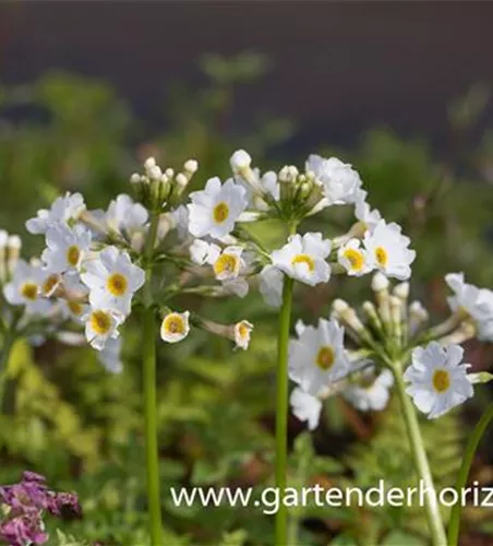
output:
POLYGON ((320 233, 292 235, 270 258, 273 264, 288 276, 314 286, 330 278, 330 266, 325 259, 330 253, 332 242, 320 233))

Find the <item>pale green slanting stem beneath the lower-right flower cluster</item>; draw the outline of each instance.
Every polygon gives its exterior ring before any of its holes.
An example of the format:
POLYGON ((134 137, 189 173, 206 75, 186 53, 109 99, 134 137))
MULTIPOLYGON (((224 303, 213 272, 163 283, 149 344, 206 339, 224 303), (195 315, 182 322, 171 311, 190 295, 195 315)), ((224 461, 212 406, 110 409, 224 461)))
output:
POLYGON ((425 488, 424 490, 426 497, 424 501, 424 510, 426 513, 432 544, 434 546, 445 546, 447 544, 447 538, 442 522, 442 515, 438 510, 438 503, 436 501, 435 486, 433 484, 433 477, 428 462, 426 451, 424 449, 416 410, 406 393, 406 385, 402 379, 400 366, 393 366, 393 371, 396 380, 397 394, 402 408, 404 420, 406 423, 406 430, 408 432, 412 459, 414 461, 414 467, 425 488))

